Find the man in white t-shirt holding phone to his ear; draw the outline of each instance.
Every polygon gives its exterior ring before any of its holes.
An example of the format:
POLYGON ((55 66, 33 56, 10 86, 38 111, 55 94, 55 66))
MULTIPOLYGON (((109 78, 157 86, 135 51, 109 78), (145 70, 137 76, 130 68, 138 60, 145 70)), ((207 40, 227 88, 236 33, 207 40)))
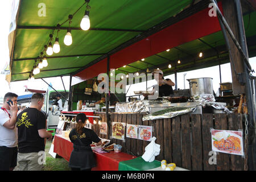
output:
POLYGON ((12 171, 17 164, 17 98, 15 93, 6 93, 0 109, 0 171, 12 171))

